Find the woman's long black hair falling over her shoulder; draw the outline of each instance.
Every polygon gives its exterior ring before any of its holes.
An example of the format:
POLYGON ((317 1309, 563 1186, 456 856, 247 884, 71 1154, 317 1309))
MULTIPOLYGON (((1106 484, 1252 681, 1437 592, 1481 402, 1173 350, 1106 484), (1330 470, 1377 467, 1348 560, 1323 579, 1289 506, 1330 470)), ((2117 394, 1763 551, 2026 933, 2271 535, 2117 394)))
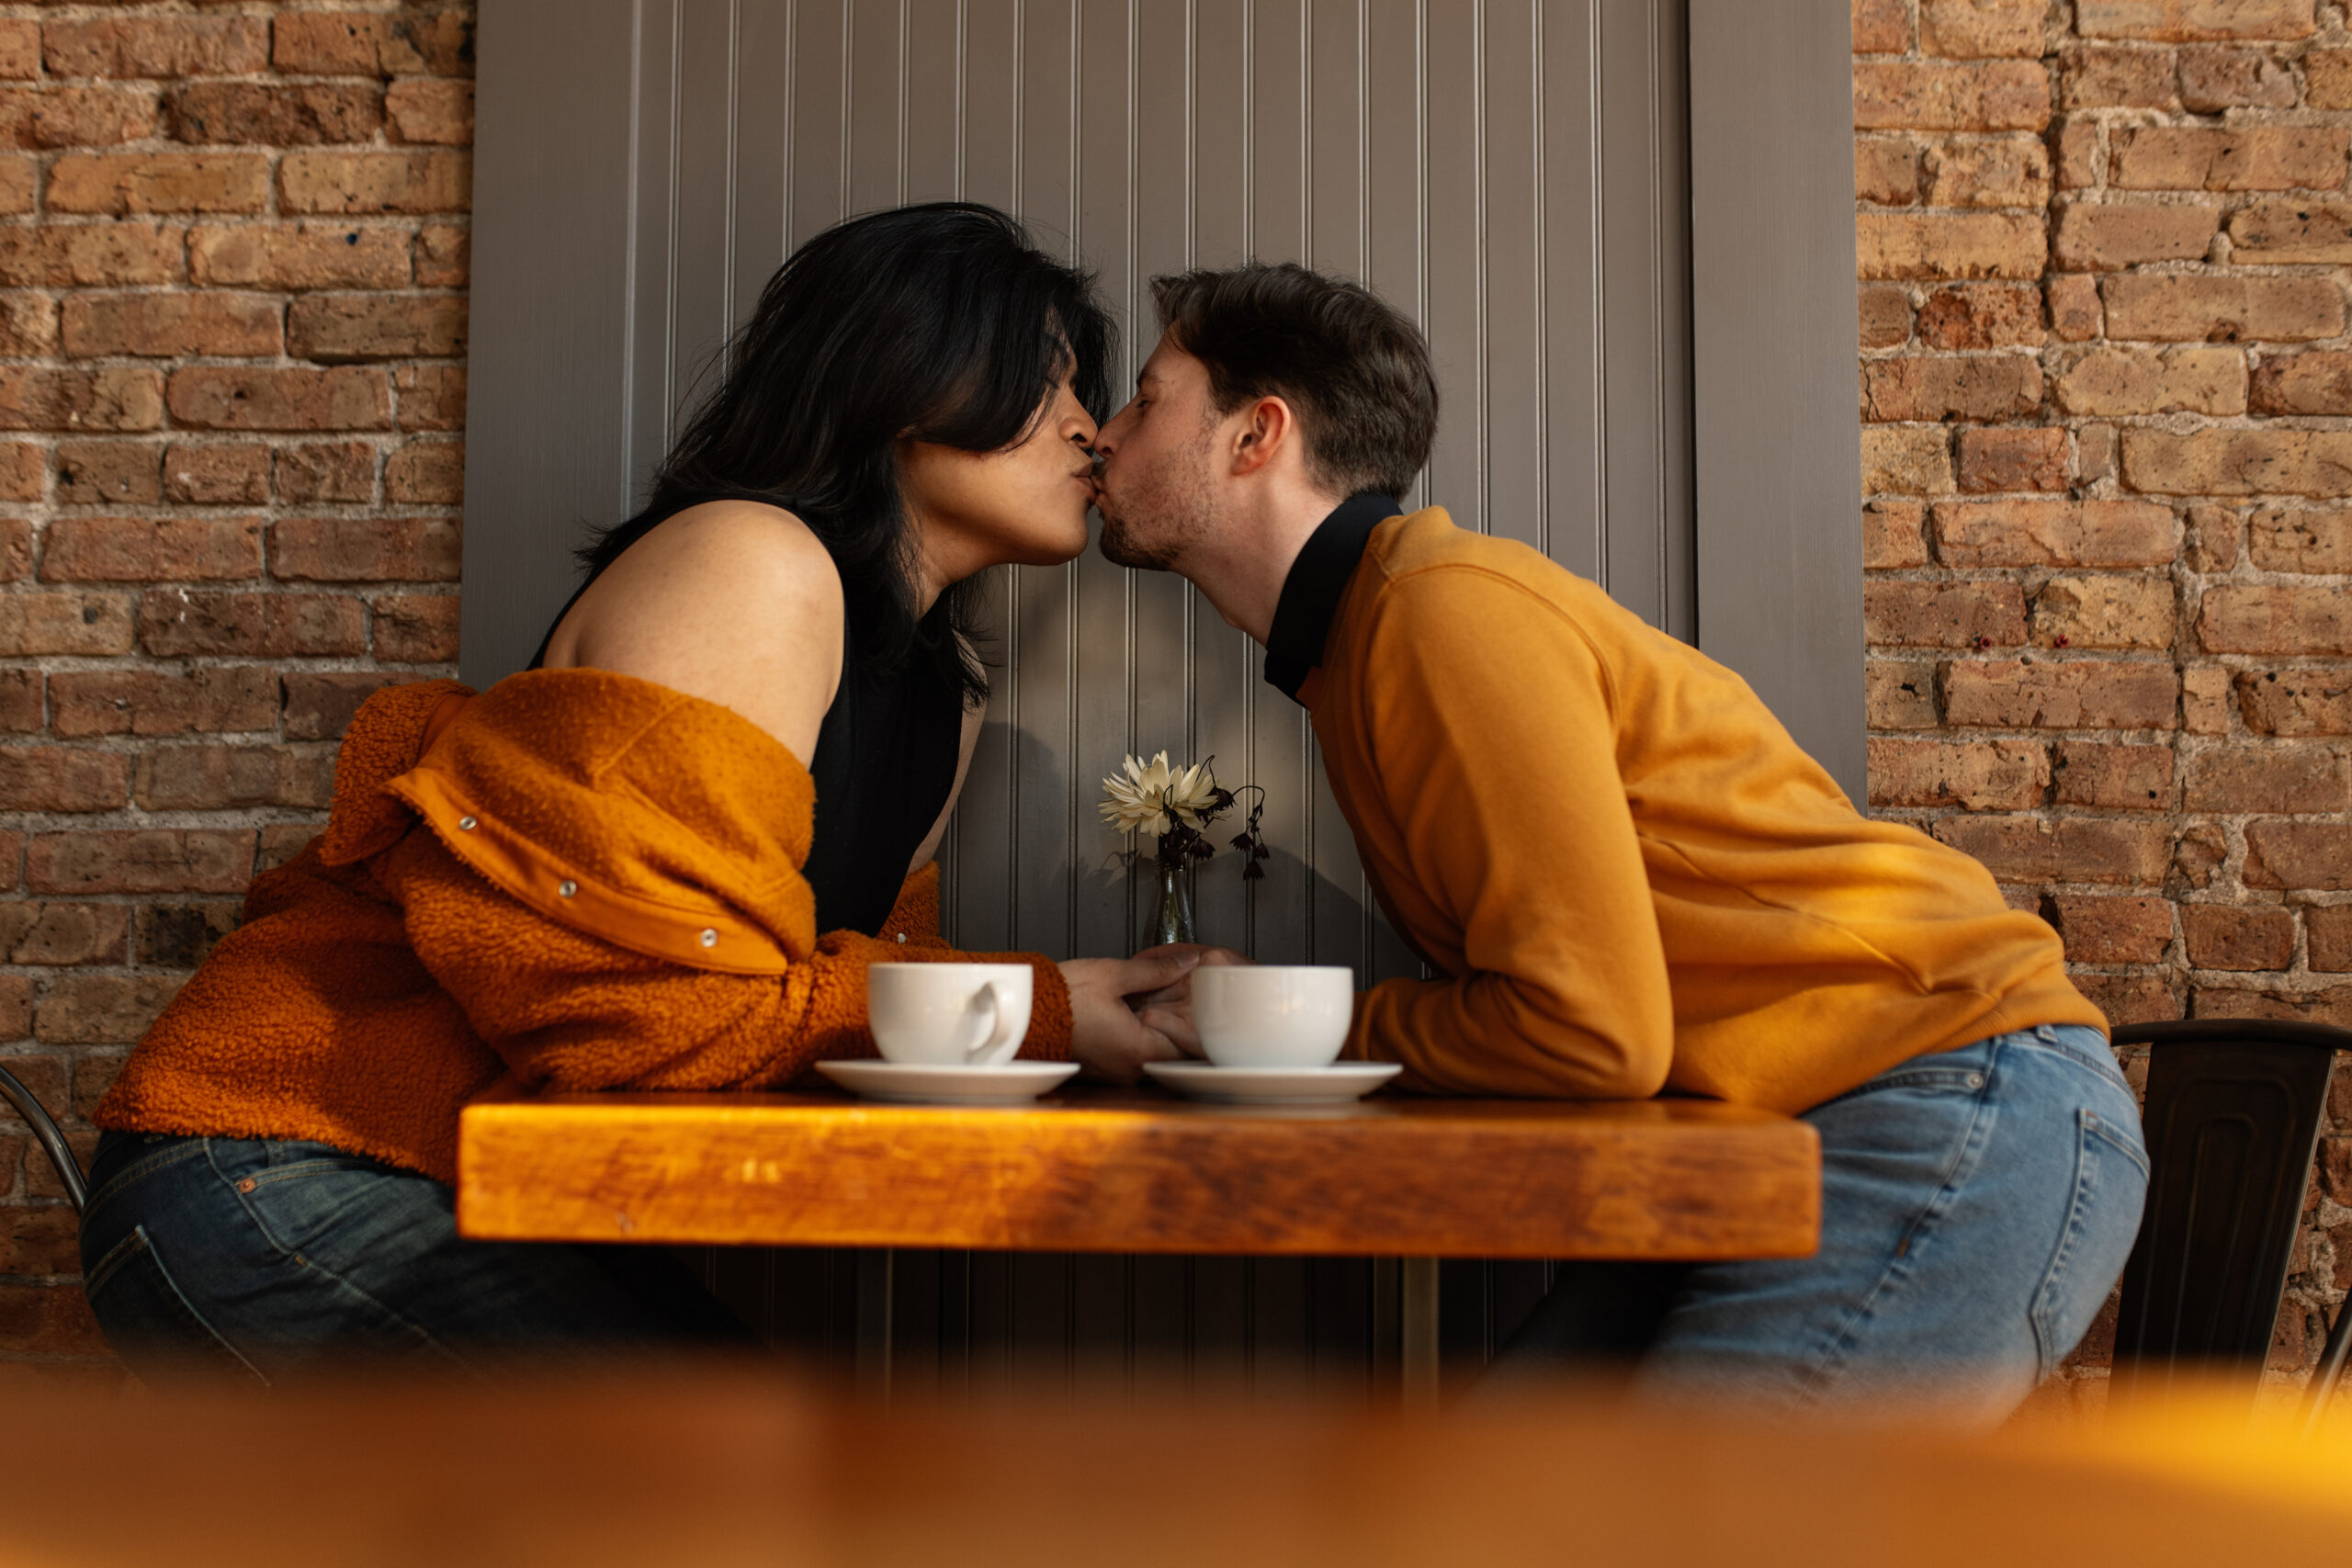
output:
POLYGON ((981 635, 976 583, 948 588, 915 618, 915 531, 896 442, 1011 447, 1063 374, 1103 418, 1117 329, 1091 282, 1040 252, 1016 219, 976 202, 835 223, 760 289, 644 510, 602 531, 581 559, 602 571, 703 501, 781 505, 842 574, 851 661, 873 670, 917 661, 967 703, 988 696, 969 654, 981 635))

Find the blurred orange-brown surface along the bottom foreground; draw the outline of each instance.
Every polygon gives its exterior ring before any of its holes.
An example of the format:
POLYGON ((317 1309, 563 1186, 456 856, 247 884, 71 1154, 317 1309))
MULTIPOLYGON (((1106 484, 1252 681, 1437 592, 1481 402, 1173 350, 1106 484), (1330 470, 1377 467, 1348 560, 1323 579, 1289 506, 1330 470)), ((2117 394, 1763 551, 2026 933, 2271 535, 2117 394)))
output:
POLYGON ((0 1561, 1938 1563, 2343 1561, 2352 1420, 1962 1439, 1628 1410, 974 1401, 882 1413, 774 1368, 275 1396, 31 1394, 0 1561))

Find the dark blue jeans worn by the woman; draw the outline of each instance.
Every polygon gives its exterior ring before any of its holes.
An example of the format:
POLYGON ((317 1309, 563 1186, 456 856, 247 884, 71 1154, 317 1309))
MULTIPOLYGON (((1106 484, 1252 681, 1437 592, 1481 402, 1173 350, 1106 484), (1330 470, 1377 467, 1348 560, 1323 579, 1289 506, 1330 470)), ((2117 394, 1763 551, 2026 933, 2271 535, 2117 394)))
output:
POLYGON ((750 1342, 668 1251, 463 1241, 449 1187, 325 1143, 106 1133, 89 1192, 89 1307, 141 1378, 750 1342))

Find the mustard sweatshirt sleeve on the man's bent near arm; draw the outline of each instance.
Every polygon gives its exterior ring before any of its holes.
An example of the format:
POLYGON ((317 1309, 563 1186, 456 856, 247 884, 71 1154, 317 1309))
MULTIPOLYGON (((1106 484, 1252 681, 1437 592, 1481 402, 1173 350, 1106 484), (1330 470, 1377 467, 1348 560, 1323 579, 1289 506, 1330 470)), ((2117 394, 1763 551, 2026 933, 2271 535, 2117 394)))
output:
POLYGON ((1404 576, 1371 614, 1376 790, 1404 893, 1463 933, 1463 966, 1369 990, 1350 1053, 1449 1093, 1658 1093, 1672 997, 1606 670, 1552 604, 1477 567, 1404 576))

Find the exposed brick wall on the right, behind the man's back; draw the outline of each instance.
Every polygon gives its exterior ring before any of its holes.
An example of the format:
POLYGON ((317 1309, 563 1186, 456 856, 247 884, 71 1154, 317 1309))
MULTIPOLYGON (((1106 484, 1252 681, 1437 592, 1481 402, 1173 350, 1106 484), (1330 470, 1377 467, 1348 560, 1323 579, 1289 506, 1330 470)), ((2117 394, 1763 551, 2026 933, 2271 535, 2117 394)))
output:
MULTIPOLYGON (((1853 0, 1853 54, 1875 809, 2117 1020, 2352 1025, 2345 7, 1853 0)), ((2333 1112, 2277 1371, 2352 1286, 2333 1112)))

